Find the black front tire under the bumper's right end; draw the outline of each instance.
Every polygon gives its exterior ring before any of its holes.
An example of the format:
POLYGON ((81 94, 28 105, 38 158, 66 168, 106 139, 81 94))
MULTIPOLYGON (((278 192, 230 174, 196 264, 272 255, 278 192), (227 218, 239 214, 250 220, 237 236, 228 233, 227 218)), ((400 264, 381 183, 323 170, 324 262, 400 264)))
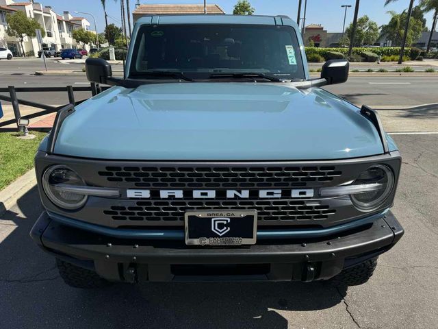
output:
POLYGON ((377 266, 377 258, 367 260, 349 269, 344 269, 337 276, 329 280, 333 286, 359 286, 368 282, 377 266))

